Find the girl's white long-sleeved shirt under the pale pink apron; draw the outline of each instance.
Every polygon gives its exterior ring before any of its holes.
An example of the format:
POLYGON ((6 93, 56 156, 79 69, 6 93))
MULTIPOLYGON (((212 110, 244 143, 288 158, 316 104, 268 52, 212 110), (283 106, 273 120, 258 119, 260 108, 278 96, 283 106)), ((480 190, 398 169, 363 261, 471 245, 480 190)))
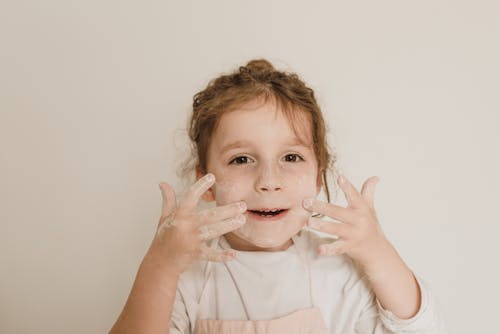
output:
MULTIPOLYGON (((445 333, 427 284, 419 312, 399 319, 384 310, 366 277, 346 255, 318 256, 331 242, 303 229, 294 244, 279 252, 241 252, 226 263, 198 261, 177 286, 170 333, 194 333, 197 319, 270 320, 318 307, 330 333, 445 333)), ((221 237, 214 248, 230 248, 221 237)))

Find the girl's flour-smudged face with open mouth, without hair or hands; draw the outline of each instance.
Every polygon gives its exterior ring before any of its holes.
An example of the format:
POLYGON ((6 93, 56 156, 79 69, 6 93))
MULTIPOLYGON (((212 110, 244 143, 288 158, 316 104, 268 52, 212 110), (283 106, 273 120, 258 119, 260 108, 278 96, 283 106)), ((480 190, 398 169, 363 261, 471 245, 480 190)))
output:
POLYGON ((289 243, 310 216, 302 200, 316 197, 321 189, 311 124, 297 112, 300 138, 274 103, 254 102, 228 112, 214 131, 207 169, 216 183, 204 198, 218 205, 246 202, 247 223, 228 235, 246 249, 289 243), (284 211, 275 216, 253 212, 269 209, 284 211))

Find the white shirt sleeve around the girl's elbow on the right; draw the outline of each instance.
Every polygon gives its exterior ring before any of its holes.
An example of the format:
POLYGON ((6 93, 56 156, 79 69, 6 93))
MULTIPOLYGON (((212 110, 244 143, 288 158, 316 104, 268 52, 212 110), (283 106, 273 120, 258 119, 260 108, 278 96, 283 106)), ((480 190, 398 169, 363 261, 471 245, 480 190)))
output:
POLYGON ((428 284, 415 275, 420 287, 421 304, 417 314, 409 319, 401 319, 392 312, 385 310, 372 295, 372 301, 356 325, 356 333, 373 334, 446 334, 441 309, 432 295, 428 284))

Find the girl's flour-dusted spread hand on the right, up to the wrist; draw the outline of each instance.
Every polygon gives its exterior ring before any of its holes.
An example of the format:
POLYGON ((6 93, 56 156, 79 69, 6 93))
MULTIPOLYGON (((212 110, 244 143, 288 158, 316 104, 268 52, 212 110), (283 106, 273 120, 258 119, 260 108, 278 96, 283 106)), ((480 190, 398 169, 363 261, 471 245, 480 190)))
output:
POLYGON ((339 222, 310 217, 308 225, 340 238, 333 243, 319 246, 319 254, 347 254, 362 262, 378 247, 388 243, 374 206, 375 185, 379 179, 374 176, 366 180, 361 193, 344 176, 340 176, 337 181, 346 197, 347 207, 313 198, 305 199, 303 206, 308 211, 321 213, 339 222))

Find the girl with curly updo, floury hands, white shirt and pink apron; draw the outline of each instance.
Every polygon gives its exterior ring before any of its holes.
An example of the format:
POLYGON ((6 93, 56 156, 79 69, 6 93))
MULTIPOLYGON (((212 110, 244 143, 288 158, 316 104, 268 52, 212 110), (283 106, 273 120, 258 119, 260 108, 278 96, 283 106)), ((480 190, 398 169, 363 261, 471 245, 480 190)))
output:
POLYGON ((160 184, 157 232, 112 333, 444 332, 380 228, 378 178, 358 192, 339 176, 348 206, 330 203, 335 158, 296 74, 253 60, 220 76, 194 96, 189 134, 198 180, 179 203, 160 184), (216 206, 197 211, 200 199, 216 206))

